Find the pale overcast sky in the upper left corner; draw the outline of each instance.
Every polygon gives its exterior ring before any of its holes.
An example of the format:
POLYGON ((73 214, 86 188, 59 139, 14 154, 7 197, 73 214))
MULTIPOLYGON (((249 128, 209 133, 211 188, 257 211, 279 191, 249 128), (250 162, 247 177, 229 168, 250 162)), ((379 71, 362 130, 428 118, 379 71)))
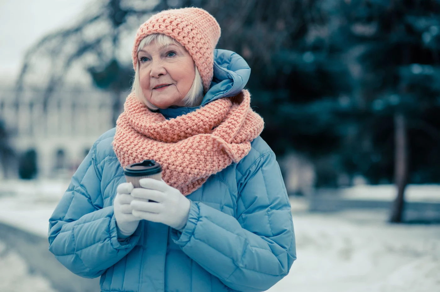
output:
POLYGON ((14 81, 27 48, 72 25, 96 0, 0 0, 0 78, 14 81))

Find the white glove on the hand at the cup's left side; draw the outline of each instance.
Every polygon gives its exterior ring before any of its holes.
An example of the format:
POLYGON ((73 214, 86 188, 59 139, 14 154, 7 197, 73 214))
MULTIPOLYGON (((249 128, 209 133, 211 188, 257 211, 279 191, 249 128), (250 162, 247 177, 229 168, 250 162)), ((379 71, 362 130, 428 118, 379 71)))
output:
POLYGON ((123 182, 117 186, 113 207, 118 238, 127 238, 132 235, 142 219, 132 214, 132 206, 130 205, 130 202, 133 200, 133 197, 130 195, 132 190, 133 184, 131 182, 123 182))

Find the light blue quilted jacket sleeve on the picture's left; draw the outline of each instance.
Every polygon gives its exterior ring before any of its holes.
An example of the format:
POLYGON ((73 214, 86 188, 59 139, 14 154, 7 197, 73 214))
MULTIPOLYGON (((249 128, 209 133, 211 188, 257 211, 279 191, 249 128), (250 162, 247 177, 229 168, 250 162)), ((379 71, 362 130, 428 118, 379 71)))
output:
POLYGON ((49 250, 84 278, 96 278, 121 260, 136 245, 141 231, 139 227, 118 241, 113 206, 103 208, 95 151, 96 142, 49 219, 49 250))

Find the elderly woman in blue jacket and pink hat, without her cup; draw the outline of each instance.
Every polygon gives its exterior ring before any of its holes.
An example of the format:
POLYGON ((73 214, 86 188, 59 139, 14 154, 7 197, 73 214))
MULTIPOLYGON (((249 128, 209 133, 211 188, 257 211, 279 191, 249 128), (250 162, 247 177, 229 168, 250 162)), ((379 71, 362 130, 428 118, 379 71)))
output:
POLYGON ((49 219, 49 250, 101 291, 264 291, 296 259, 279 164, 243 89, 250 69, 214 49, 205 10, 162 11, 140 26, 132 92, 49 219), (162 180, 126 182, 153 159, 162 180), (153 201, 149 201, 153 200, 153 201))

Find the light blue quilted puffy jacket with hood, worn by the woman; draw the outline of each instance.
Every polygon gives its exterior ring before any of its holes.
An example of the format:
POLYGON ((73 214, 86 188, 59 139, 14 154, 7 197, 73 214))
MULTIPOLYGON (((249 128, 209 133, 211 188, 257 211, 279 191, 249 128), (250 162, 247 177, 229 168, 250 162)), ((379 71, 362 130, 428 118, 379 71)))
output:
MULTIPOLYGON (((250 69, 238 54, 215 50, 214 78, 202 105, 239 93, 250 69)), ((161 110, 175 118, 197 107, 161 110)), ((115 128, 93 144, 49 219, 49 250, 70 271, 101 276, 101 291, 264 291, 296 259, 290 203, 275 154, 253 140, 239 163, 208 178, 187 196, 182 232, 142 220, 118 241, 113 200, 125 182, 110 145, 115 128)))

